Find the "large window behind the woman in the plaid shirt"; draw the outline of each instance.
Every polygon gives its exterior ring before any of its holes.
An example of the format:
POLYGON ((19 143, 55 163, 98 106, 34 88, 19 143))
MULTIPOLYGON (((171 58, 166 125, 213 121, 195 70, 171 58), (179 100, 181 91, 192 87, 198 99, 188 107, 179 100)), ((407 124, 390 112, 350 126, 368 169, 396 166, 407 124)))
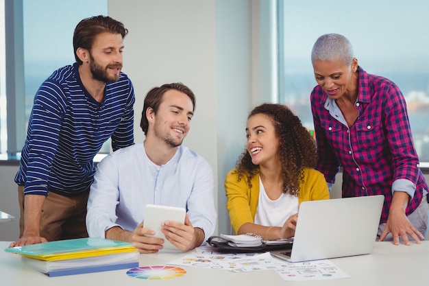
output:
POLYGON ((322 34, 343 34, 365 71, 400 87, 421 167, 429 167, 429 2, 280 0, 278 8, 280 102, 312 129, 312 45, 322 34))

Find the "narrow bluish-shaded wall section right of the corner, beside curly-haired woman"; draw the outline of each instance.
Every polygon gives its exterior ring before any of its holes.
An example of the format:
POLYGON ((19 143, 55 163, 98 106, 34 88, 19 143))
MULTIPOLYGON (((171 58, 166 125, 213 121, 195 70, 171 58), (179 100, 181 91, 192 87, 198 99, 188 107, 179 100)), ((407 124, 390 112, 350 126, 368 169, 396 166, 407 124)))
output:
MULTIPOLYGON (((219 233, 230 233, 223 179, 243 150, 252 105, 252 36, 249 1, 217 1, 217 188, 219 233)), ((204 137, 199 139, 204 141, 204 137)))

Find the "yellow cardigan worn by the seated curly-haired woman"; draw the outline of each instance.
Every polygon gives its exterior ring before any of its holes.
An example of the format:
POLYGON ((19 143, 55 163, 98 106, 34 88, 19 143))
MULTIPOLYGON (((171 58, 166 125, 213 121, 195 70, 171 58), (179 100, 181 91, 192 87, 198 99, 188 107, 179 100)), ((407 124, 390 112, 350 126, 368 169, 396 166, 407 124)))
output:
MULTIPOLYGON (((259 174, 252 178, 252 188, 247 183, 247 176, 238 182, 238 174, 232 169, 225 178, 225 192, 228 197, 226 208, 230 213, 231 226, 235 233, 247 222, 254 222, 259 200, 259 174)), ((304 169, 304 183, 299 183, 298 204, 308 200, 329 199, 326 180, 319 171, 304 169)))

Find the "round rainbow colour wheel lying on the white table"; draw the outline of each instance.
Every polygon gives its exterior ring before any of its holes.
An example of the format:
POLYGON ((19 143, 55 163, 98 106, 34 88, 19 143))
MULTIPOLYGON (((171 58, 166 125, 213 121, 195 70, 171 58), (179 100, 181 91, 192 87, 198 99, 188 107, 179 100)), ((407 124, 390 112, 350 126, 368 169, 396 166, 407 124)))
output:
POLYGON ((147 280, 166 280, 186 274, 186 270, 177 266, 144 266, 127 271, 127 275, 147 280))

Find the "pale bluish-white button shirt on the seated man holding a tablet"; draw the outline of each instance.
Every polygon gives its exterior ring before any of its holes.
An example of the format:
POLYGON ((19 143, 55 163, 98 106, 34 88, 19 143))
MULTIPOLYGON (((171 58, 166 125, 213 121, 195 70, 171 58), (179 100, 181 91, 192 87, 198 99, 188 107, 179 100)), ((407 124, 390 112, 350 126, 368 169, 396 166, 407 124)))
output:
POLYGON ((204 230, 204 241, 215 232, 212 168, 187 147, 162 166, 149 160, 143 143, 125 147, 101 160, 94 179, 86 215, 90 237, 105 237, 113 226, 134 230, 146 204, 185 208, 193 226, 204 230))

